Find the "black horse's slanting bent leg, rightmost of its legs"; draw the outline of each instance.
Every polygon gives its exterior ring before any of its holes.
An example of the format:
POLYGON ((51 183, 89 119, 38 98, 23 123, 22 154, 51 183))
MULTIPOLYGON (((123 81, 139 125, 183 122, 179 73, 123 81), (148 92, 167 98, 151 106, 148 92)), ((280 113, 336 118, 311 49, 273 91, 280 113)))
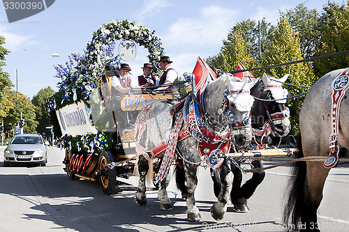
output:
MULTIPOLYGON (((253 167, 255 168, 262 168, 263 164, 259 160, 253 160, 251 163, 253 167)), ((253 173, 252 178, 247 180, 244 185, 242 185, 242 194, 245 199, 249 199, 253 193, 255 192, 255 189, 262 183, 262 181, 265 178, 265 171, 258 171, 253 173)))

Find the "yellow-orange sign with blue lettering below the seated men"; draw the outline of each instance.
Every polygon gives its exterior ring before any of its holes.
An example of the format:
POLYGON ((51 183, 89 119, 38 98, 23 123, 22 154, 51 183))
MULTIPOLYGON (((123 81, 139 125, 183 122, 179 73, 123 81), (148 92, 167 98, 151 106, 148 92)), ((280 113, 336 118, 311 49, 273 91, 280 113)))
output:
POLYGON ((158 99, 172 99, 170 94, 156 94, 156 95, 126 95, 121 100, 121 109, 123 111, 141 110, 145 105, 154 102, 158 99))

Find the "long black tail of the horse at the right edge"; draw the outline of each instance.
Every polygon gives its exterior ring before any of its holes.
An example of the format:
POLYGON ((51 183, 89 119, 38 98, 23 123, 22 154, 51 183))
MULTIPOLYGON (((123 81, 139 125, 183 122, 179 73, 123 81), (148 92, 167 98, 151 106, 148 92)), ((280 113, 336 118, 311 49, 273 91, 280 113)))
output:
MULTIPOLYGON (((302 137, 299 134, 297 138, 297 153, 295 158, 304 157, 302 150, 302 137)), ((301 222, 301 213, 304 212, 306 205, 304 204, 304 183, 306 180, 306 162, 298 161, 293 164, 291 178, 288 183, 285 195, 288 199, 285 202, 283 211, 283 223, 288 225, 290 229, 297 229, 301 222)))

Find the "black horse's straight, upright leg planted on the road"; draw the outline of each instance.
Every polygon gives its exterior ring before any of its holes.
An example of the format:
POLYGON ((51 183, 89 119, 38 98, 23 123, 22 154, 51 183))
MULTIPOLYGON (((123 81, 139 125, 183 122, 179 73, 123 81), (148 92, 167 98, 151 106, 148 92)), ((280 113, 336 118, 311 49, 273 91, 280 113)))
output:
POLYGON ((235 166, 235 164, 230 164, 232 175, 234 179, 232 181, 232 191, 230 192, 230 199, 234 205, 235 212, 248 212, 247 200, 242 194, 242 171, 235 166))

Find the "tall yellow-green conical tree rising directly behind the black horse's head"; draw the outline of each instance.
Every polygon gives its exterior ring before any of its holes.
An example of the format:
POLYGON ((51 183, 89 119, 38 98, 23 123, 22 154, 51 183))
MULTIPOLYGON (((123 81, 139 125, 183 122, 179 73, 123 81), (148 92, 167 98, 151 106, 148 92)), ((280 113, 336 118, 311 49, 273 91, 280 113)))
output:
MULTIPOLYGON (((290 61, 297 61, 302 58, 299 38, 293 33, 290 24, 288 24, 284 15, 281 15, 280 21, 276 26, 276 30, 269 41, 269 51, 263 54, 262 64, 274 65, 278 63, 286 63, 290 61)), ((271 68, 266 71, 273 77, 283 77, 290 74, 288 83, 311 86, 315 82, 315 76, 309 65, 306 63, 297 63, 293 65, 285 65, 277 68, 271 68)), ((299 95, 305 93, 307 89, 296 86, 285 86, 291 95, 299 95)), ((290 108, 290 121, 292 125, 291 134, 296 134, 299 130, 299 111, 302 107, 304 97, 292 98, 288 102, 290 108)))

